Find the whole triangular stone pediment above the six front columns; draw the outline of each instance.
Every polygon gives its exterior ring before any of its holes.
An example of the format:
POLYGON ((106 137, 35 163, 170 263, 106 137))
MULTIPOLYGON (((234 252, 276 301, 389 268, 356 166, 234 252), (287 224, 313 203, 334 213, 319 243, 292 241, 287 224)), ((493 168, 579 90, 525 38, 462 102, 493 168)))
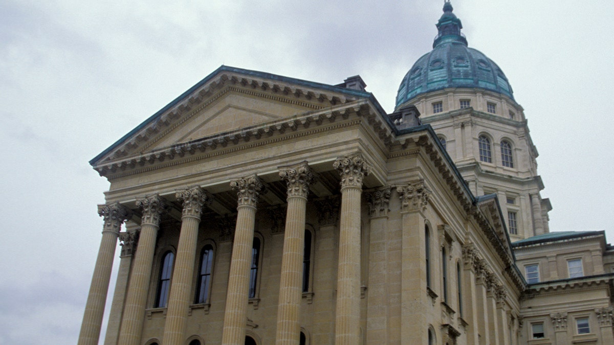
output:
POLYGON ((365 91, 222 66, 90 164, 144 155, 369 97, 365 91))

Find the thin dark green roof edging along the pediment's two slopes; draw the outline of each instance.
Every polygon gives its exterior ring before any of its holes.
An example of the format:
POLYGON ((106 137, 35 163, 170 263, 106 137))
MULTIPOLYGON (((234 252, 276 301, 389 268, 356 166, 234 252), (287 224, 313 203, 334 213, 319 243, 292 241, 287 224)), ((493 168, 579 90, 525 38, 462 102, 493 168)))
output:
POLYGON ((338 87, 338 86, 335 86, 335 85, 329 85, 329 84, 325 84, 325 83, 310 82, 309 80, 303 80, 303 79, 296 79, 296 78, 291 78, 291 77, 279 76, 277 74, 272 74, 272 73, 267 73, 267 72, 252 71, 250 69, 243 69, 243 68, 236 68, 236 67, 222 65, 219 68, 217 68, 215 71, 211 72, 211 74, 209 74, 208 76, 204 77, 203 80, 200 80, 200 82, 196 83, 193 87, 189 88, 187 91, 185 91, 184 93, 179 95, 179 97, 173 99, 173 101, 171 101, 171 103, 166 104, 166 106, 164 106, 162 109, 158 110, 155 114, 151 115, 149 118, 147 118, 147 120, 142 122, 140 125, 136 126, 133 130, 128 132, 125 136, 120 138, 118 141, 114 142, 106 150, 104 150, 103 152, 99 153, 99 155, 97 155, 96 157, 92 158, 90 160, 90 162, 89 162, 90 165, 94 166, 98 160, 100 160, 102 157, 104 157, 104 155, 106 155, 107 153, 109 153, 112 150, 114 150, 116 147, 118 147, 120 144, 122 144, 122 142, 125 141, 126 139, 128 139, 131 136, 133 136, 134 134, 138 133, 138 131, 140 131, 142 128, 147 126, 147 124, 149 124, 150 122, 153 122, 156 118, 160 117, 166 111, 168 111, 169 109, 172 109, 174 106, 179 104, 184 98, 188 97, 194 91, 198 90, 198 88, 202 87, 204 84, 206 84, 209 81, 211 81, 212 79, 214 79, 214 77, 216 77, 218 74, 220 74, 220 72, 235 72, 235 73, 238 73, 238 74, 244 74, 246 76, 258 77, 258 78, 269 79, 269 80, 276 80, 276 81, 279 81, 279 82, 293 83, 293 84, 296 84, 296 85, 301 85, 303 87, 317 88, 317 89, 320 89, 320 90, 344 93, 344 94, 349 95, 349 96, 354 96, 354 97, 359 97, 359 98, 367 98, 367 99, 369 99, 371 101, 371 103, 373 103, 373 106, 375 106, 376 109, 378 109, 379 112, 381 112, 381 114, 386 114, 386 112, 384 111, 383 107, 381 107, 381 105, 379 104, 379 102, 375 98, 375 96, 373 96, 372 93, 367 92, 367 91, 354 90, 354 89, 351 89, 351 88, 343 88, 343 87, 338 87))

